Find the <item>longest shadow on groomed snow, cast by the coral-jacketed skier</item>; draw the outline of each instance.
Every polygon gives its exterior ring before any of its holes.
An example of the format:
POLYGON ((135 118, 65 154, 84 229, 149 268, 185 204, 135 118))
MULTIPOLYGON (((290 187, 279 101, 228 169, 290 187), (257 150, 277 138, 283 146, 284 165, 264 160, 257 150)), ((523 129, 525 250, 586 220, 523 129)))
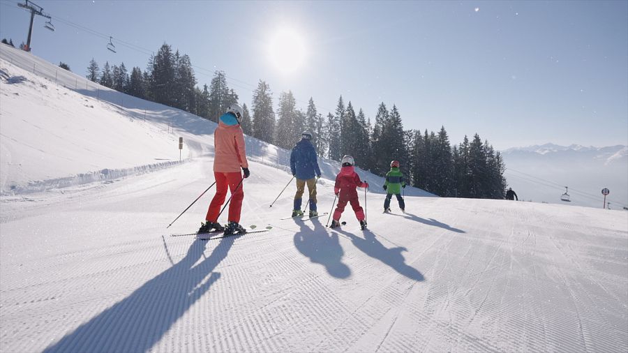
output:
POLYGON ((227 257, 234 238, 220 239, 211 255, 196 266, 207 242, 195 241, 177 264, 44 352, 147 352, 220 278, 212 271, 227 257))

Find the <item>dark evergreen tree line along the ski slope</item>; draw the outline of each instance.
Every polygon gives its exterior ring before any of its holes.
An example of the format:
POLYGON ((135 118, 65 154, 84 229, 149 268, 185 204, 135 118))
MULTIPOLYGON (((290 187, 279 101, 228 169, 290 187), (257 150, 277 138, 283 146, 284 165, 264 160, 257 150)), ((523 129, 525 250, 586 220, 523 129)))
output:
MULTIPOLYGON (((147 70, 133 68, 128 75, 124 63, 102 70, 91 60, 87 78, 128 93, 186 110, 200 117, 217 121, 227 106, 238 103, 238 95, 227 85, 223 71, 216 71, 209 84, 196 87, 190 58, 163 44, 151 56, 147 70)), ((260 80, 253 91, 251 110, 242 105, 244 133, 259 140, 291 149, 301 139, 301 132, 313 134, 312 143, 319 156, 341 160, 345 154, 354 156, 364 170, 383 176, 391 160, 399 160, 412 186, 442 197, 498 198, 505 195, 504 162, 499 152, 474 135, 465 136, 458 146, 451 147, 444 127, 437 133, 404 130, 401 114, 393 105, 389 110, 380 103, 375 121, 366 118, 364 110, 356 110, 351 102, 345 105, 341 96, 334 113, 322 117, 313 98, 306 111, 297 107, 292 91, 281 92, 274 110, 273 92, 260 80)))

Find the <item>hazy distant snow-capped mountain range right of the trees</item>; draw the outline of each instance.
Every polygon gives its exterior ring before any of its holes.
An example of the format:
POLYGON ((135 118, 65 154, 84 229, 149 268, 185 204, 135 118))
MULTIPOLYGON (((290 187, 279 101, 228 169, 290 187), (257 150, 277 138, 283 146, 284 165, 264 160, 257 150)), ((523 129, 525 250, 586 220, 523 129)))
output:
POLYGON ((609 188, 606 201, 611 209, 628 206, 628 146, 548 143, 514 147, 502 151, 502 156, 507 181, 524 200, 562 203, 560 195, 567 186, 569 204, 601 207, 601 189, 609 188))

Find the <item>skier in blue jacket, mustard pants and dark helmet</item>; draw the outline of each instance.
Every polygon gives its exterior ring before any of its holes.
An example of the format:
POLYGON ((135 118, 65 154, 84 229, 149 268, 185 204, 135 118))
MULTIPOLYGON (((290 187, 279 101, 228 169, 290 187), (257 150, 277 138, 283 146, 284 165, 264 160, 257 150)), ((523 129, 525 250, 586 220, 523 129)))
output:
POLYGON ((311 139, 312 134, 304 131, 301 134, 301 141, 297 142, 297 145, 292 148, 292 153, 290 153, 290 171, 292 176, 297 178, 297 193, 294 195, 292 217, 303 216, 301 202, 306 184, 310 200, 310 217, 318 216, 316 181, 320 178, 320 167, 318 167, 316 149, 310 142, 311 139))

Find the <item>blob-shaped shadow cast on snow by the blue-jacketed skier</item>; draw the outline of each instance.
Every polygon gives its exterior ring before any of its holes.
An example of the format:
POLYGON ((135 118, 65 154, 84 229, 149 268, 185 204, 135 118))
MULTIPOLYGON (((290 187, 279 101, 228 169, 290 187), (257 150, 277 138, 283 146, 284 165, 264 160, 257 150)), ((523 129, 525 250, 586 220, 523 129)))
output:
POLYGON ((344 251, 338 241, 338 234, 328 234, 320 223, 320 218, 307 222, 313 223, 313 230, 304 221, 294 220, 301 228, 294 234, 294 246, 297 250, 309 257, 311 262, 325 266, 331 276, 336 278, 351 276, 351 269, 342 262, 344 251))

